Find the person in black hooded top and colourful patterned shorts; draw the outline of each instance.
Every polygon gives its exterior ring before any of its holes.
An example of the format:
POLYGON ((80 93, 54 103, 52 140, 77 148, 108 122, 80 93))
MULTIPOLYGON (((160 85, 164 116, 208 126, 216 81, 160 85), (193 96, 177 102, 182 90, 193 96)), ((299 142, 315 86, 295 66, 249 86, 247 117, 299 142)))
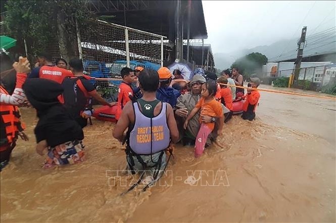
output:
POLYGON ((36 152, 42 156, 47 150, 43 168, 83 161, 83 130, 57 99, 63 92, 62 86, 54 81, 34 78, 27 79, 23 90, 39 118, 34 133, 36 152))

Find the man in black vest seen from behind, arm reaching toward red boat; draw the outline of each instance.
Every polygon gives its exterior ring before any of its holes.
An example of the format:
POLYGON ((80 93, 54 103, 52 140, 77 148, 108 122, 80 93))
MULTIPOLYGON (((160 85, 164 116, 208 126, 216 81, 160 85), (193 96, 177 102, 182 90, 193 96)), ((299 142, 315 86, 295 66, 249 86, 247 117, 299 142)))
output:
POLYGON ((83 74, 83 63, 81 59, 73 58, 69 61, 70 70, 73 77, 66 77, 62 83, 64 88, 63 102, 77 123, 83 128, 87 125, 87 119, 93 113, 92 98, 101 105, 108 105, 102 98, 93 84, 89 81, 90 77, 83 74))

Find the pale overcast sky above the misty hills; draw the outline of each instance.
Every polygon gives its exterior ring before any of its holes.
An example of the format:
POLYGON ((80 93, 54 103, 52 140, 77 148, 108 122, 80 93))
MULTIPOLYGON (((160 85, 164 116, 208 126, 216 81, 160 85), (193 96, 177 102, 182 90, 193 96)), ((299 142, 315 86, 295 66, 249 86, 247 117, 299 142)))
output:
POLYGON ((213 53, 269 45, 336 26, 335 1, 202 1, 213 53))

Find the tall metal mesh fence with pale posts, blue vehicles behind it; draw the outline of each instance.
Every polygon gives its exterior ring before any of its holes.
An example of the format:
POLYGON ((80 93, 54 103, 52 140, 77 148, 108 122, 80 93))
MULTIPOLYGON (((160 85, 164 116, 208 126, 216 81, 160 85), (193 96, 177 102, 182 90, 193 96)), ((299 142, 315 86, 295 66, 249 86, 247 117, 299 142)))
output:
MULTIPOLYGON (((131 69, 163 66, 166 37, 105 21, 91 23, 91 28, 80 30, 78 36, 79 54, 90 76, 120 78, 120 70, 125 66, 131 69)), ((100 90, 113 88, 117 82, 100 79, 95 85, 100 90)))

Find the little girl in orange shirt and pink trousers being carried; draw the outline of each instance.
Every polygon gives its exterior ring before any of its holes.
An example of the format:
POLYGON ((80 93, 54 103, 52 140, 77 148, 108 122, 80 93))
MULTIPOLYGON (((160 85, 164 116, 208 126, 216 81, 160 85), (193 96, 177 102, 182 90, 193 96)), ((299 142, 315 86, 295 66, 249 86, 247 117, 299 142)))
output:
POLYGON ((222 106, 218 101, 215 100, 215 94, 217 92, 217 85, 214 81, 207 81, 205 84, 202 85, 202 98, 200 101, 195 105, 195 108, 191 110, 190 114, 186 118, 184 122, 184 129, 186 129, 188 125, 188 121, 201 109, 201 115, 200 115, 200 123, 201 127, 200 130, 196 136, 195 141, 195 157, 200 157, 203 154, 205 143, 207 141, 208 135, 214 130, 215 123, 203 123, 201 120, 201 117, 203 115, 208 115, 212 117, 219 117, 217 119, 218 123, 218 131, 217 134, 222 134, 223 129, 223 110, 222 106))

